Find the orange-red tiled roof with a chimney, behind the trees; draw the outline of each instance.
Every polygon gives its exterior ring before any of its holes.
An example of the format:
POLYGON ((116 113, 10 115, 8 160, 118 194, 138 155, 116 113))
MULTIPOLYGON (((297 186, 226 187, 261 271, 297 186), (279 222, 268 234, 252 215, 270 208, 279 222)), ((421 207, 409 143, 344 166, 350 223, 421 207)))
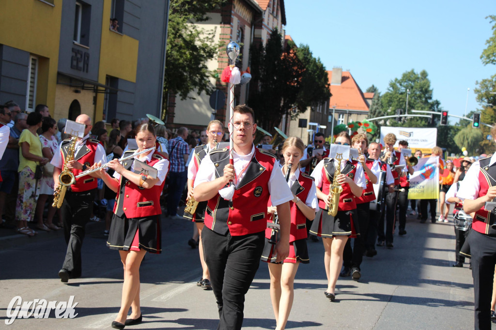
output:
MULTIPOLYGON (((327 71, 329 83, 332 80, 332 71, 327 71)), ((364 93, 348 71, 341 75, 341 85, 330 85, 331 98, 329 108, 336 106, 342 110, 369 111, 369 105, 365 101, 364 93)), ((373 94, 373 93, 372 93, 373 94)))

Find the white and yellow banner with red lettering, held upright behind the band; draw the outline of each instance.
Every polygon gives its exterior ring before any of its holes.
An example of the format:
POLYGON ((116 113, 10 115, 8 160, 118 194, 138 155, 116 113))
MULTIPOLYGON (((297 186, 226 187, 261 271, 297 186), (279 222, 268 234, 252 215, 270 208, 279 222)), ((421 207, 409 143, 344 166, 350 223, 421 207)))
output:
POLYGON ((439 197, 439 157, 419 159, 410 175, 408 199, 437 199, 439 197))

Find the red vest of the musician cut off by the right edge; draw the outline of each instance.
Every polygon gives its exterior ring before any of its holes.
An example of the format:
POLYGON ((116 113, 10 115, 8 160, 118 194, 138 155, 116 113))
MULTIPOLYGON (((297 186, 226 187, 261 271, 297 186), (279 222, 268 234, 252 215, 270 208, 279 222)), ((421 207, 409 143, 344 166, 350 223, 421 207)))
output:
MULTIPOLYGON (((489 166, 491 157, 479 161, 481 169, 479 170, 479 195, 476 198, 486 196, 489 187, 496 185, 493 179, 496 177, 496 164, 489 166)), ((496 236, 496 230, 491 227, 495 223, 496 216, 489 211, 484 210, 484 206, 475 213, 472 222, 472 229, 492 236, 496 236)))

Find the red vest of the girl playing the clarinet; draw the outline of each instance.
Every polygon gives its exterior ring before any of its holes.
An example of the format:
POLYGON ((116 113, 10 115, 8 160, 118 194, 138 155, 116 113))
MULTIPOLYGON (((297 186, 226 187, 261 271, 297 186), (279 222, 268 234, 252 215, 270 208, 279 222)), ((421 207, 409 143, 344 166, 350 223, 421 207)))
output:
MULTIPOLYGON (((303 203, 307 200, 310 193, 311 186, 313 184, 313 178, 300 171, 298 181, 296 181, 291 187, 291 192, 297 196, 303 203)), ((270 206, 270 200, 268 205, 270 206)), ((307 218, 300 211, 298 206, 296 206, 293 201, 289 202, 291 208, 291 227, 289 232, 289 242, 294 242, 298 239, 307 238, 307 218)), ((272 222, 273 215, 267 220, 267 222, 272 222)), ((265 237, 270 238, 272 234, 272 229, 265 229, 265 237)))

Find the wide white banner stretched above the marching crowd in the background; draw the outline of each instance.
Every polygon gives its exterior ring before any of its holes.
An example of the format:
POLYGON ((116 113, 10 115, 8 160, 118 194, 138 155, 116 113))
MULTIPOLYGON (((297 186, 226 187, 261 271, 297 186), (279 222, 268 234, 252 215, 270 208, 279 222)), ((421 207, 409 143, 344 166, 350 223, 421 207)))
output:
POLYGON ((419 128, 419 127, 387 127, 380 128, 380 143, 384 145, 384 136, 388 133, 396 135, 395 147, 398 142, 405 140, 408 142, 408 148, 434 148, 437 140, 437 128, 419 128))

